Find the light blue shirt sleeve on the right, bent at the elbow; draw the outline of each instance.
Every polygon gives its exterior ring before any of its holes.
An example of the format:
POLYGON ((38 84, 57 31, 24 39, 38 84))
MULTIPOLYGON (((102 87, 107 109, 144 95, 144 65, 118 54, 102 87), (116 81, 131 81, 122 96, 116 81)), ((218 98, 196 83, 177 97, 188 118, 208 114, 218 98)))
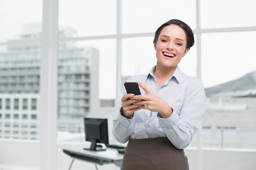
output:
POLYGON ((185 89, 180 113, 174 109, 173 114, 167 119, 158 115, 159 124, 176 148, 183 149, 189 146, 193 135, 200 127, 205 107, 204 86, 199 79, 194 79, 185 89))

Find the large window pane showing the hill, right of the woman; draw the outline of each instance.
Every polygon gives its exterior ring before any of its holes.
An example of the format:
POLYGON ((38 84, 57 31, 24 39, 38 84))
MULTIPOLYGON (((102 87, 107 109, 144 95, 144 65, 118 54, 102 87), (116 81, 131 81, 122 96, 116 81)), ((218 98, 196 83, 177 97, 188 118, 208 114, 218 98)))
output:
POLYGON ((202 34, 203 124, 216 129, 218 147, 255 148, 255 39, 256 31, 202 34))

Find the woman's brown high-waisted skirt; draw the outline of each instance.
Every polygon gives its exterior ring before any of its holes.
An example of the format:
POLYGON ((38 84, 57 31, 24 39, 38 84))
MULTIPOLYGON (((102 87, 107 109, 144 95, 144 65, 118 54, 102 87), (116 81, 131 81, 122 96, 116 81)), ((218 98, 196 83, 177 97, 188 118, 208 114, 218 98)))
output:
POLYGON ((121 170, 189 170, 189 163, 167 137, 130 139, 121 170))

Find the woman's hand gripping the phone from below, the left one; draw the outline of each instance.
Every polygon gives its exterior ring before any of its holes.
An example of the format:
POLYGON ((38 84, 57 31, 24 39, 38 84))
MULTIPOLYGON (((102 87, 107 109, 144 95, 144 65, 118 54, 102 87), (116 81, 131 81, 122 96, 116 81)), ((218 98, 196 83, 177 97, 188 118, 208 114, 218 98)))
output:
POLYGON ((132 97, 134 96, 134 94, 129 93, 129 94, 125 94, 122 99, 121 99, 121 106, 122 106, 122 110, 121 110, 121 115, 123 115, 124 117, 130 119, 132 118, 132 114, 139 110, 141 107, 141 105, 136 105, 136 102, 139 102, 140 100, 137 99, 132 99, 132 97))

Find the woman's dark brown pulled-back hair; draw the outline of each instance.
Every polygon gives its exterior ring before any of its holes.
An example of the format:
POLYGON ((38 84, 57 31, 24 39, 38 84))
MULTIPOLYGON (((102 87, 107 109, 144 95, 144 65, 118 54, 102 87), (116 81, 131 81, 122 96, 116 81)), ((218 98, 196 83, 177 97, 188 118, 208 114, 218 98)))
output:
POLYGON ((185 33, 186 33, 186 49, 190 49, 191 46, 194 45, 194 34, 193 34, 193 31, 191 30, 191 28, 183 21, 181 20, 169 20, 167 22, 165 22, 164 24, 162 24, 158 29, 157 31, 155 31, 155 38, 153 40, 153 43, 156 44, 157 43, 157 40, 158 40, 158 37, 159 37, 159 34, 161 33, 162 29, 165 27, 165 26, 169 26, 171 24, 174 24, 174 25, 177 25, 177 26, 180 26, 180 28, 182 28, 185 33))

